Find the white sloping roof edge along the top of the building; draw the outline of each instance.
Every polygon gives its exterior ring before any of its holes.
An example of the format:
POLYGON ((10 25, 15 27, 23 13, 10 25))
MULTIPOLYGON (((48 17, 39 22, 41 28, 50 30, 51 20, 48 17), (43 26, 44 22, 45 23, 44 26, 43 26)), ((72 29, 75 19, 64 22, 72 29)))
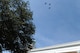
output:
POLYGON ((49 47, 44 47, 44 48, 36 48, 36 49, 31 50, 31 52, 59 49, 59 48, 65 48, 65 47, 73 47, 73 46, 80 46, 80 40, 74 41, 74 42, 68 42, 68 43, 64 43, 64 44, 58 44, 58 45, 54 45, 54 46, 49 46, 49 47))

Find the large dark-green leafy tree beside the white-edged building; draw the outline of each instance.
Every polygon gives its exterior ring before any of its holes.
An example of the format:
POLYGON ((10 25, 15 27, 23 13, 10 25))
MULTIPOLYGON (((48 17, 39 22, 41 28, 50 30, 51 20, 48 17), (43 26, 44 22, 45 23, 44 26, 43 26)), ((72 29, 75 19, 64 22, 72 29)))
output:
POLYGON ((29 2, 0 0, 0 51, 26 53, 33 48, 35 25, 29 2))

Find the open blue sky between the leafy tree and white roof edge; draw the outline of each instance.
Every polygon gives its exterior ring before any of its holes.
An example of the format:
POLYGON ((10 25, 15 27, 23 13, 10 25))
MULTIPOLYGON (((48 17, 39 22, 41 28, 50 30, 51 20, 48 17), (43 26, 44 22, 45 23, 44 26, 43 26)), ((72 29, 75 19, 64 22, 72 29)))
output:
POLYGON ((29 1, 37 48, 80 40, 80 0, 29 1))

